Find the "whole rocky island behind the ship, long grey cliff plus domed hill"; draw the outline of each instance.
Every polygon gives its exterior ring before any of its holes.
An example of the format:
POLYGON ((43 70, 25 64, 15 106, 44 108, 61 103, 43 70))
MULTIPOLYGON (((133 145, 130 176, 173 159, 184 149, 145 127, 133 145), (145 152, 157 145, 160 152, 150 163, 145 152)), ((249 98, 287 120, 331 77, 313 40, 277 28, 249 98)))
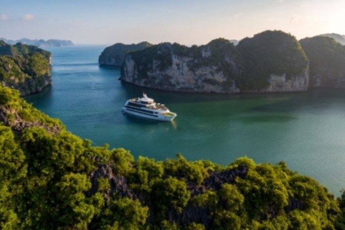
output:
POLYGON ((308 66, 293 36, 265 31, 237 46, 216 39, 200 47, 162 43, 128 52, 121 79, 138 86, 185 92, 306 91, 308 66))

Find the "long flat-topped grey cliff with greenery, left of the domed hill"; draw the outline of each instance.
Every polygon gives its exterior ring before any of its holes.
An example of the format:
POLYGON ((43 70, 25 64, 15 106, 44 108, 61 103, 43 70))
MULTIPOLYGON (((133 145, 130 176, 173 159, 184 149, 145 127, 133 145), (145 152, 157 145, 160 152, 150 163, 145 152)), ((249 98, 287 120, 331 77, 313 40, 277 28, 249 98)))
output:
POLYGON ((225 39, 191 48, 164 43, 130 52, 123 63, 125 82, 156 89, 186 92, 239 92, 235 80, 241 61, 234 45, 225 39))

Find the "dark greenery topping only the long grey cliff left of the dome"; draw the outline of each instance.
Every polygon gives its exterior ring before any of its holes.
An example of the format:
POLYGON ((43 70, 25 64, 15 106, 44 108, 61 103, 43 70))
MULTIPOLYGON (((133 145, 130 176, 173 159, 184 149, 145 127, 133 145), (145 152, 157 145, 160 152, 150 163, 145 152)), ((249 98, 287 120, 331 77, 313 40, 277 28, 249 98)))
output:
MULTIPOLYGON (((215 72, 222 72, 227 80, 224 88, 232 86, 232 80, 240 75, 241 58, 236 47, 223 38, 215 39, 205 46, 186 47, 178 43, 161 43, 149 48, 129 52, 128 56, 135 62, 138 79, 145 79, 144 84, 150 86, 155 80, 149 72, 165 71, 172 67, 173 56, 186 58, 187 67, 194 73, 203 67, 216 67, 215 72)), ((122 72, 123 74, 123 72, 122 72)), ((220 85, 215 79, 204 79, 208 84, 220 85)))

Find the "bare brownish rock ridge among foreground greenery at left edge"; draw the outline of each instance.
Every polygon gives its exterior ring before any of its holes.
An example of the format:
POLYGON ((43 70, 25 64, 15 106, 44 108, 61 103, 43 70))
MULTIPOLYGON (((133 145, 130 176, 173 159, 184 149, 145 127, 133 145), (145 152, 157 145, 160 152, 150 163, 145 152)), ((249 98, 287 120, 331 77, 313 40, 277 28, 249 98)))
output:
POLYGON ((20 117, 17 112, 10 111, 4 106, 0 106, 0 122, 3 122, 4 125, 11 127, 12 131, 17 135, 20 135, 25 128, 29 127, 42 127, 52 135, 57 135, 62 129, 62 127, 57 124, 48 126, 45 123, 39 122, 37 119, 27 121, 20 117), (9 115, 11 115, 11 118, 9 118, 9 115))

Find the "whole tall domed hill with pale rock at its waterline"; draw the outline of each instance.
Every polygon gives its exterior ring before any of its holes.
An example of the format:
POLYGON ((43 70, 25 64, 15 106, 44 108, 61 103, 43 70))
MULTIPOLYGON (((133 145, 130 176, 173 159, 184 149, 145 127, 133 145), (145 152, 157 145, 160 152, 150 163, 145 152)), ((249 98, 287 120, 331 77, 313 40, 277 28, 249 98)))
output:
POLYGON ((241 88, 249 92, 306 91, 309 61, 299 42, 282 31, 265 31, 237 45, 246 62, 241 88))

